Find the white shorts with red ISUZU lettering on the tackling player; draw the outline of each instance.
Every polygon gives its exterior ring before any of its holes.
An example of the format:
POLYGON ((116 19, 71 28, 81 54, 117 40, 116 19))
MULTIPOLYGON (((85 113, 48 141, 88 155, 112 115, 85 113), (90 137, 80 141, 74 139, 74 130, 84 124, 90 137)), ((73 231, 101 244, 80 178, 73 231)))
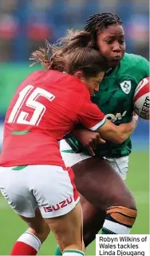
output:
POLYGON ((79 201, 73 170, 55 165, 28 165, 21 170, 0 167, 0 190, 16 213, 44 218, 69 213, 79 201))

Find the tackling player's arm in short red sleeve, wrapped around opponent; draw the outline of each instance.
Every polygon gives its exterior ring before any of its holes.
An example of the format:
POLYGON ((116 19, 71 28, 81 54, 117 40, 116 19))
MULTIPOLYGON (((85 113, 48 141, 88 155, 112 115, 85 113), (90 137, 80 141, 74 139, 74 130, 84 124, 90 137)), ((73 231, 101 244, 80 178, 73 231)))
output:
POLYGON ((85 101, 85 104, 77 114, 77 119, 79 123, 89 128, 89 130, 98 132, 103 140, 109 140, 118 144, 122 144, 124 140, 128 139, 137 124, 136 116, 132 116, 132 121, 126 124, 118 126, 113 124, 105 119, 105 114, 89 99, 85 101))

